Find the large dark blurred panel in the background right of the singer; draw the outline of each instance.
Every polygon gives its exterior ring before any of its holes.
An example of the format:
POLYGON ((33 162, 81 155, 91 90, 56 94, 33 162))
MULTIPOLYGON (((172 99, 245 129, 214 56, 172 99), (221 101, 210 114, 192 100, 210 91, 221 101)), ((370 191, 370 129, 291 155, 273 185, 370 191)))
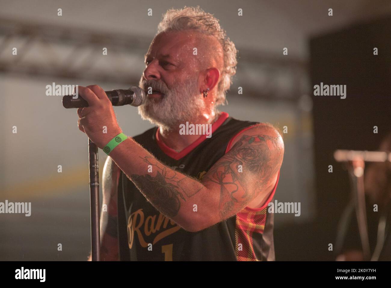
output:
POLYGON ((308 225, 275 231, 276 260, 333 260, 337 223, 350 197, 336 149, 377 150, 391 132, 391 18, 310 40, 311 90, 321 82, 346 85, 346 99, 313 96, 317 216, 308 225), (378 55, 373 55, 373 48, 378 55), (373 133, 378 127, 378 134, 373 133), (333 173, 328 173, 333 165, 333 173))

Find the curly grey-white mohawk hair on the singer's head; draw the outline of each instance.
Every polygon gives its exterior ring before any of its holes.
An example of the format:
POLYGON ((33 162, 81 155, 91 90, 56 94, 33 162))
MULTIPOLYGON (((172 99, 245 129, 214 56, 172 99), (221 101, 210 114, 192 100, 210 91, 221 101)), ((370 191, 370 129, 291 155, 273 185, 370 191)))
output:
MULTIPOLYGON (((161 32, 185 30, 196 30, 214 36, 221 43, 224 53, 224 67, 220 71, 221 75, 217 85, 215 107, 226 104, 226 92, 230 89, 232 76, 236 73, 237 49, 235 44, 227 37, 226 31, 219 24, 219 20, 213 14, 203 11, 199 6, 169 9, 163 14, 163 19, 158 25, 156 35, 161 32)), ((213 47, 210 47, 210 49, 214 50, 213 47)))

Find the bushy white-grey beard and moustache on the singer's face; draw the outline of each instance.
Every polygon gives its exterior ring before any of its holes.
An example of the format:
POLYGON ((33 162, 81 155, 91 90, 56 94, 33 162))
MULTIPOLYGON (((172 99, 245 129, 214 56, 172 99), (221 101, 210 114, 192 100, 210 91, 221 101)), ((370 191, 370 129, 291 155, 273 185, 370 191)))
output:
POLYGON ((138 114, 143 120, 148 120, 163 130, 179 129, 179 124, 199 119, 205 108, 205 103, 197 91, 198 83, 191 79, 174 85, 174 89, 168 89, 163 82, 153 80, 140 80, 140 87, 152 87, 152 90, 156 88, 165 94, 163 99, 147 97, 144 104, 138 106, 138 114))

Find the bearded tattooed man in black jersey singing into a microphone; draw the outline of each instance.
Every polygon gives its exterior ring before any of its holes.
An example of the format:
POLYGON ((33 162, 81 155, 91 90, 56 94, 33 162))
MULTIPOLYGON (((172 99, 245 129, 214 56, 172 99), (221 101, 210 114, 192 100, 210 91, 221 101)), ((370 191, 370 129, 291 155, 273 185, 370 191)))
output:
POLYGON ((77 110, 79 129, 109 155, 101 260, 274 260, 267 204, 284 145, 272 125, 217 110, 236 54, 212 14, 199 7, 167 11, 140 80, 150 94, 138 112, 156 127, 133 138, 122 133, 99 86, 79 86, 89 103, 77 110), (183 133, 183 125, 199 129, 183 133), (206 131, 201 127, 212 127, 211 134, 195 133, 206 131))

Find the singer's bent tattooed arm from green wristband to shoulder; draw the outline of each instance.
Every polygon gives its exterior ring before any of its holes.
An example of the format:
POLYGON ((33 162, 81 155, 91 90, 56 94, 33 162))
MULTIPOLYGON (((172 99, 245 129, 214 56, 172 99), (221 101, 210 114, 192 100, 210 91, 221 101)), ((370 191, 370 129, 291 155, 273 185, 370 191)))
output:
POLYGON ((195 232, 265 199, 275 184, 284 153, 276 129, 265 124, 253 126, 233 144, 201 181, 163 165, 131 138, 110 156, 157 210, 195 232))

